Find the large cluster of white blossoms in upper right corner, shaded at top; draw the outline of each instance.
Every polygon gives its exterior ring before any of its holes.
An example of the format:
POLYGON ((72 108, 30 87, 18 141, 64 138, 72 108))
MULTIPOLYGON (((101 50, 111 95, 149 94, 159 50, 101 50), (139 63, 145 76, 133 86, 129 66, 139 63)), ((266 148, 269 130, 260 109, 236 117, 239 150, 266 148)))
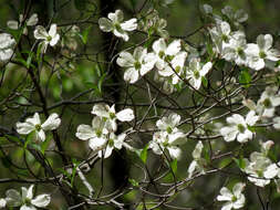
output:
POLYGON ((215 22, 209 28, 209 33, 214 43, 214 51, 222 59, 235 62, 240 66, 248 66, 259 71, 266 66, 266 61, 279 61, 280 52, 272 48, 273 39, 270 34, 260 34, 257 43, 247 43, 246 34, 240 25, 248 19, 242 10, 234 12, 230 7, 222 9, 224 17, 211 13, 210 6, 205 6, 206 13, 215 22), (229 22, 228 22, 229 21, 229 22), (236 28, 231 30, 231 25, 236 28))

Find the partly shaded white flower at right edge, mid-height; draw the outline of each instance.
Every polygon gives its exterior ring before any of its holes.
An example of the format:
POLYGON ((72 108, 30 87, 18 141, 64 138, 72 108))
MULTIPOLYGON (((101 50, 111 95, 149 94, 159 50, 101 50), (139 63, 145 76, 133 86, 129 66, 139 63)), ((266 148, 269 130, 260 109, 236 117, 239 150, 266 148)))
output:
POLYGON ((277 86, 267 86, 257 103, 257 113, 262 117, 273 117, 276 107, 280 105, 280 95, 277 86))

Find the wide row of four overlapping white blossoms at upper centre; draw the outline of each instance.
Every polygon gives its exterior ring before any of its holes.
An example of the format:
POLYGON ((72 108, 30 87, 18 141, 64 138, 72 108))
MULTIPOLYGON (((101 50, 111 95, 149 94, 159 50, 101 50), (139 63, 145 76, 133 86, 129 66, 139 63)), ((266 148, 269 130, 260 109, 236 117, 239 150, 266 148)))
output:
POLYGON ((129 83, 137 82, 141 76, 148 73, 153 67, 157 69, 157 74, 170 85, 176 85, 182 81, 188 81, 195 88, 199 90, 201 81, 212 67, 211 62, 203 63, 199 57, 190 57, 186 65, 188 53, 182 50, 182 41, 174 40, 167 44, 160 38, 153 43, 153 52, 147 53, 147 49, 137 46, 133 55, 128 52, 121 52, 117 64, 125 67, 124 80, 129 83))

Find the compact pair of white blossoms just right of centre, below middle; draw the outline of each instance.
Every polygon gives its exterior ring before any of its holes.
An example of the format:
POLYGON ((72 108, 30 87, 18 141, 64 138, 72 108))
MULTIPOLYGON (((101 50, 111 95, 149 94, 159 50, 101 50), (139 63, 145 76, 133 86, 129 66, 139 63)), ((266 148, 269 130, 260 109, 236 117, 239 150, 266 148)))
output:
POLYGON ((172 158, 178 159, 182 156, 179 145, 186 143, 186 135, 177 128, 180 123, 180 116, 170 113, 167 117, 163 117, 156 122, 159 132, 153 135, 149 141, 149 148, 157 155, 162 155, 165 149, 168 150, 172 158))

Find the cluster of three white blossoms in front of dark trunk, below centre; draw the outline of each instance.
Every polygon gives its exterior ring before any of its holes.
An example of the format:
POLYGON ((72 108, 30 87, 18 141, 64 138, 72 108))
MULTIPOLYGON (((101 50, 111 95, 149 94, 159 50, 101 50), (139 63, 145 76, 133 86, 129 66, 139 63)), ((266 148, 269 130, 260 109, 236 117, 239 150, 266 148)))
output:
POLYGON ((118 113, 115 112, 115 105, 95 104, 91 112, 95 115, 92 125, 79 125, 76 137, 81 140, 89 140, 89 146, 93 151, 97 151, 100 157, 107 158, 114 148, 121 149, 126 146, 124 139, 126 134, 115 135, 117 123, 131 122, 134 119, 134 113, 131 108, 125 108, 118 113))

